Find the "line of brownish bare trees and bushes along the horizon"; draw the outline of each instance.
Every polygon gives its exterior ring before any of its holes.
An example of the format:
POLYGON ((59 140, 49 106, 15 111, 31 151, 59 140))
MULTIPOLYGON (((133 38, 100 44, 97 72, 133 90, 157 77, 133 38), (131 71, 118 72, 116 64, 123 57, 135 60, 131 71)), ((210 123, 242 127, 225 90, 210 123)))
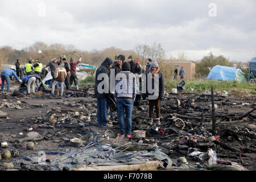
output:
MULTIPOLYGON (((16 59, 20 59, 21 64, 27 63, 31 59, 39 59, 43 64, 47 64, 53 58, 59 58, 59 56, 67 53, 67 59, 73 57, 73 59, 79 59, 79 55, 82 55, 81 63, 92 64, 97 67, 105 60, 106 57, 110 57, 114 60, 115 55, 125 55, 126 60, 128 56, 132 55, 134 60, 139 60, 142 65, 146 65, 146 60, 151 58, 155 59, 159 63, 159 67, 164 73, 166 78, 172 77, 174 70, 166 63, 162 63, 164 60, 175 60, 175 61, 187 61, 187 57, 184 53, 180 53, 178 57, 169 57, 167 59, 166 53, 162 47, 162 44, 154 42, 152 45, 141 44, 136 46, 133 50, 123 50, 116 47, 109 47, 103 50, 94 49, 93 51, 80 51, 73 45, 63 44, 50 44, 47 45, 43 42, 36 42, 30 47, 23 48, 21 50, 13 49, 10 46, 3 46, 0 48, 0 64, 15 64, 16 59)), ((205 55, 201 60, 196 62, 196 78, 206 77, 210 69, 215 65, 224 65, 233 67, 237 64, 237 68, 241 68, 245 75, 248 72, 248 68, 243 69, 242 64, 249 65, 247 63, 234 63, 229 61, 226 57, 220 55, 215 56, 213 53, 205 55)))

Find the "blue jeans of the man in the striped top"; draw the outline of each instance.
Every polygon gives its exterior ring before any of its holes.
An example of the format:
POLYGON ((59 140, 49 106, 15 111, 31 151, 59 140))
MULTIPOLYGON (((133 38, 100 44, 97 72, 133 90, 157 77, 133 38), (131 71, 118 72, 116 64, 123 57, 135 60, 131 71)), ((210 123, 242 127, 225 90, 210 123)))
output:
POLYGON ((121 135, 125 134, 124 117, 126 116, 126 134, 131 134, 131 114, 133 113, 133 100, 117 98, 117 114, 121 135))

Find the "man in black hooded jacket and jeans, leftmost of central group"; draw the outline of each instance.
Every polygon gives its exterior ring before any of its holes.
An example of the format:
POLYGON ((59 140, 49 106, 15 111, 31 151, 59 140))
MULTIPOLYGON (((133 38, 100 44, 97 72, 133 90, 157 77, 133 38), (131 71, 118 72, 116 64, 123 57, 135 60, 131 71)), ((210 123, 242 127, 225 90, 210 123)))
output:
POLYGON ((109 88, 105 92, 105 85, 109 84, 109 76, 110 76, 110 68, 113 65, 112 59, 107 57, 105 61, 101 64, 101 66, 96 71, 95 76, 95 86, 94 86, 94 97, 97 98, 97 120, 99 127, 112 127, 113 125, 108 123, 108 97, 109 97, 109 88), (101 80, 98 80, 99 76, 105 76, 101 80), (105 80, 107 77, 108 80, 105 80), (99 84, 104 83, 103 86, 99 86, 99 84), (100 90, 103 89, 104 92, 100 93, 100 90))

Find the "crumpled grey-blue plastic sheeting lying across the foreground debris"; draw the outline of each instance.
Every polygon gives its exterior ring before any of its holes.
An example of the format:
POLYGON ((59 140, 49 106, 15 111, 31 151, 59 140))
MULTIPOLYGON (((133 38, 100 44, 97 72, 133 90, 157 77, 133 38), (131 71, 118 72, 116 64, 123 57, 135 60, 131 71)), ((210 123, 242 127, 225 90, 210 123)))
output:
POLYGON ((143 164, 149 160, 164 161, 166 160, 168 166, 172 166, 172 160, 166 154, 160 151, 138 151, 129 152, 127 154, 119 154, 108 145, 92 146, 81 152, 73 155, 62 155, 60 158, 51 160, 52 166, 59 168, 77 167, 80 164, 94 165, 94 166, 114 166, 123 164, 143 164))

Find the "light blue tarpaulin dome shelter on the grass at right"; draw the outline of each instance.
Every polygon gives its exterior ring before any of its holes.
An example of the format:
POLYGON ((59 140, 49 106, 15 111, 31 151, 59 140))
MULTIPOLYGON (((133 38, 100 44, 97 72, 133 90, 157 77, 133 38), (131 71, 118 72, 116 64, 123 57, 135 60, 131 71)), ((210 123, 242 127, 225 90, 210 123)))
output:
POLYGON ((245 73, 243 73, 241 69, 225 67, 221 65, 216 65, 215 67, 213 67, 205 80, 237 80, 240 82, 246 81, 245 73))

